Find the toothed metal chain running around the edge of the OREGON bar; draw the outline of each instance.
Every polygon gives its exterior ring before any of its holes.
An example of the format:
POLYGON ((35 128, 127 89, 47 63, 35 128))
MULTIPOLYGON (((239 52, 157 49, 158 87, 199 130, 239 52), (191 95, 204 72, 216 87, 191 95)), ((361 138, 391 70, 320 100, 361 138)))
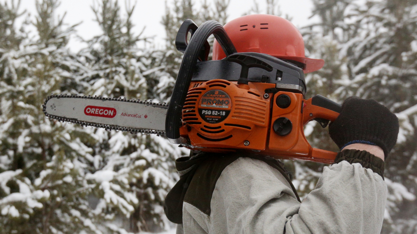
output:
POLYGON ((126 99, 125 98, 116 98, 116 97, 102 97, 102 96, 80 96, 78 94, 51 94, 50 96, 47 97, 47 99, 45 100, 45 103, 42 105, 43 111, 45 116, 47 116, 50 119, 55 119, 61 122, 70 122, 70 123, 74 123, 74 124, 79 124, 82 126, 93 126, 93 127, 101 127, 104 128, 108 131, 110 130, 119 130, 119 131, 125 131, 125 132, 130 132, 132 134, 135 133, 146 133, 146 134, 157 134, 158 136, 163 136, 165 135, 165 131, 161 131, 161 130, 153 130, 153 129, 145 129, 145 128, 134 128, 134 127, 122 127, 122 126, 117 126, 117 125, 105 125, 105 124, 96 124, 96 123, 92 123, 92 122, 87 122, 87 121, 80 121, 78 119, 73 119, 73 118, 66 118, 66 117, 61 117, 61 116, 56 116, 56 115, 51 115, 48 114, 46 109, 47 109, 47 102, 49 99, 51 98, 84 98, 84 99, 96 99, 96 100, 106 100, 106 101, 118 101, 118 102, 131 102, 131 103, 138 103, 138 104, 145 104, 145 105, 151 105, 151 106, 155 106, 155 107, 168 107, 168 104, 166 103, 155 103, 155 102, 148 102, 148 101, 141 101, 141 100, 136 100, 136 99, 126 99))

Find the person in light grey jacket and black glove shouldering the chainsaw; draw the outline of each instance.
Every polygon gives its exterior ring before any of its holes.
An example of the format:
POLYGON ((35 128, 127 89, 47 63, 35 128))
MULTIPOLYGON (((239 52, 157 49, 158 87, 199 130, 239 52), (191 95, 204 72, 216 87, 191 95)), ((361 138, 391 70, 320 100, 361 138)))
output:
POLYGON ((278 160, 200 153, 176 160, 180 180, 165 199, 165 213, 178 223, 177 234, 380 233, 384 161, 398 132, 398 118, 389 109, 350 97, 329 125, 341 151, 302 202, 278 160))

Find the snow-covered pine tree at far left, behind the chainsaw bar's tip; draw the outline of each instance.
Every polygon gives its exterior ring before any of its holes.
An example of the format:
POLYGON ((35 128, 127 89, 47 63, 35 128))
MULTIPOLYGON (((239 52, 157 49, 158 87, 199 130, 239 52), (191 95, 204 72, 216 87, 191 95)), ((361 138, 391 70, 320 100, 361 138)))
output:
POLYGON ((57 0, 36 2, 34 38, 15 28, 18 3, 0 7, 0 233, 96 229, 85 166, 78 160, 91 151, 79 136, 85 142, 91 137, 42 112, 46 96, 67 90, 63 80, 79 69, 66 48, 73 27, 64 28, 63 17, 54 16, 58 5, 57 0))

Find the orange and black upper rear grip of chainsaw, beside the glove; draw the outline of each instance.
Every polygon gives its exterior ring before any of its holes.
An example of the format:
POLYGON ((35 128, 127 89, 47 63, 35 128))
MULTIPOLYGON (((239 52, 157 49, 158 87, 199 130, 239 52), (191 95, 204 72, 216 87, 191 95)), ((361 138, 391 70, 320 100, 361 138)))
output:
POLYGON ((303 108, 303 126, 316 118, 333 122, 339 116, 341 110, 342 105, 321 95, 316 95, 305 100, 303 108))

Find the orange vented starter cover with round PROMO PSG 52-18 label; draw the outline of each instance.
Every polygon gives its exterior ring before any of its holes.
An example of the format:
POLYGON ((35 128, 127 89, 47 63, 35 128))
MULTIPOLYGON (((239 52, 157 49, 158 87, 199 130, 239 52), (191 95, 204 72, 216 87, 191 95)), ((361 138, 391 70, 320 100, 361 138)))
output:
POLYGON ((242 89, 224 79, 192 82, 182 111, 192 145, 265 149, 271 104, 264 90, 274 87, 249 83, 242 89))

